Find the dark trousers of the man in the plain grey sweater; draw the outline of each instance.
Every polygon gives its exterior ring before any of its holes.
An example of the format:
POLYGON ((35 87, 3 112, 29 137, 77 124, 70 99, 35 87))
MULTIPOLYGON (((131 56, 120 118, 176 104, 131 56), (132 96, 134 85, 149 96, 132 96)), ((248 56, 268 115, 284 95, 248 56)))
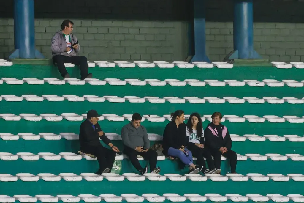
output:
POLYGON ((137 152, 135 149, 127 147, 124 145, 123 153, 129 156, 129 159, 132 165, 136 168, 136 170, 141 170, 143 167, 140 166, 140 163, 137 159, 137 155, 142 156, 144 159, 149 160, 150 172, 152 172, 156 168, 157 163, 157 152, 153 149, 149 149, 147 152, 137 152))

